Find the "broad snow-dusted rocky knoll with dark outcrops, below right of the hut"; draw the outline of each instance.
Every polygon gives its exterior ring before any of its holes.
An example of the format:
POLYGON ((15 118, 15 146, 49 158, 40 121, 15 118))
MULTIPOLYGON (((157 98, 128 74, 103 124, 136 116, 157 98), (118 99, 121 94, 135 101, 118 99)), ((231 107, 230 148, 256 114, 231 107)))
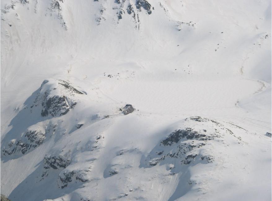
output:
POLYGON ((186 118, 183 123, 185 128, 177 129, 164 138, 147 157, 146 167, 152 167, 167 158, 179 160, 180 165, 195 163, 212 163, 214 157, 204 151, 208 141, 223 141, 226 134, 236 138, 240 143, 241 138, 224 127, 217 121, 208 118, 191 117, 186 118), (189 127, 189 125, 191 128, 189 127), (186 127, 188 126, 188 127, 186 127))

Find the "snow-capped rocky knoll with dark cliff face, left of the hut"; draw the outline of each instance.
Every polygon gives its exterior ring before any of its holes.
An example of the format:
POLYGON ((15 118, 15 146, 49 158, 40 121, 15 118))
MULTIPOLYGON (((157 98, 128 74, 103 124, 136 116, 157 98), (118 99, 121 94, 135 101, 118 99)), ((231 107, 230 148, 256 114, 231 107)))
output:
POLYGON ((77 104, 76 94, 83 93, 64 80, 48 79, 43 81, 31 108, 41 103, 43 117, 61 116, 67 114, 77 104))

